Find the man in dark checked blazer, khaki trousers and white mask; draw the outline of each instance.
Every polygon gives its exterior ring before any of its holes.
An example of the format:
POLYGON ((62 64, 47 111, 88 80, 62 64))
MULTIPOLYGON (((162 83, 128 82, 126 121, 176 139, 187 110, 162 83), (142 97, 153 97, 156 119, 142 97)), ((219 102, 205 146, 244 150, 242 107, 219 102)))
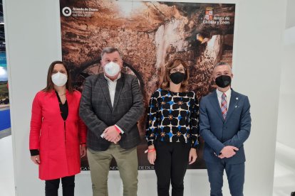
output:
POLYGON ((87 155, 93 195, 108 195, 108 170, 115 158, 123 195, 135 196, 142 92, 137 77, 120 72, 123 60, 117 48, 103 49, 100 64, 103 73, 86 78, 80 104, 81 119, 88 126, 87 155))

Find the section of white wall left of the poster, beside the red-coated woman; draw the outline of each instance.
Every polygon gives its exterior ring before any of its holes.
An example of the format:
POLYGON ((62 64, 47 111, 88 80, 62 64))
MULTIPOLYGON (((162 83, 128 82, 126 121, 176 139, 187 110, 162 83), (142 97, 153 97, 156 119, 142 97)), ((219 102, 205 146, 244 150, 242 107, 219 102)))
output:
POLYGON ((41 195, 43 183, 28 150, 29 121, 33 96, 46 84, 48 65, 61 59, 58 2, 4 0, 4 14, 16 192, 41 195))

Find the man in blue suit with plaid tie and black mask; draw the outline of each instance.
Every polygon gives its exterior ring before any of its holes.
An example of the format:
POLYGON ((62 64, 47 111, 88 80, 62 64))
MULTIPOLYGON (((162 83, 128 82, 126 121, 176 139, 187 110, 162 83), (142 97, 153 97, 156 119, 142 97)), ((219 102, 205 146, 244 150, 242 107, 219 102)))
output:
POLYGON ((215 65, 213 77, 217 89, 202 97, 200 102, 200 135, 205 140, 210 195, 222 195, 225 170, 231 195, 242 196, 244 141, 251 129, 249 99, 231 89, 232 68, 226 62, 215 65))

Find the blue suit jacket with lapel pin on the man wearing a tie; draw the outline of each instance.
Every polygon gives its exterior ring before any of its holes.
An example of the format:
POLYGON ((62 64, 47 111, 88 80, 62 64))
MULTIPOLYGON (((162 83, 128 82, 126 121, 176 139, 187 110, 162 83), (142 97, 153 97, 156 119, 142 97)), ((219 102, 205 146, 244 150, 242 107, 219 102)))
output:
POLYGON ((224 158, 229 164, 244 163, 244 141, 251 130, 250 104, 247 96, 232 90, 227 117, 224 120, 217 99, 216 90, 200 102, 200 135, 205 140, 204 159, 209 163, 219 163, 219 155, 224 146, 239 148, 232 158, 224 158))

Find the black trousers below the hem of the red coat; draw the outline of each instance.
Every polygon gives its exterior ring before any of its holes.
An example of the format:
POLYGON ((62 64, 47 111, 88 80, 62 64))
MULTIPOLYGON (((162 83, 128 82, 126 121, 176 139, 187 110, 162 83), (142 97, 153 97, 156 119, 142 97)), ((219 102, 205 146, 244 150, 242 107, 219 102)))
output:
POLYGON ((58 196, 59 182, 63 185, 63 196, 73 196, 75 188, 75 175, 45 181, 45 195, 58 196))

